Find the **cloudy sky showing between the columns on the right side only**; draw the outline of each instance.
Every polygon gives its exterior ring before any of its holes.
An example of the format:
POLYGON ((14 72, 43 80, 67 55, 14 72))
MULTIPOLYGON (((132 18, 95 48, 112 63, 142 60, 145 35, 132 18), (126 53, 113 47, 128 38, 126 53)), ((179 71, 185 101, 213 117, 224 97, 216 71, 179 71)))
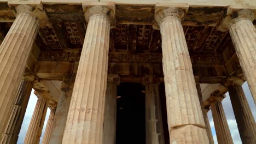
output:
MULTIPOLYGON (((251 108, 251 111, 253 113, 254 120, 255 120, 256 107, 255 107, 255 104, 254 104, 252 94, 249 91, 249 87, 248 87, 247 82, 243 83, 242 88, 243 88, 243 91, 245 92, 248 104, 251 108)), ((224 113, 225 113, 225 116, 226 116, 226 119, 227 119, 227 122, 228 122, 228 125, 229 125, 229 130, 230 130, 230 133, 231 133, 231 136, 232 136, 232 140, 233 140, 234 144, 241 144, 242 141, 240 139, 239 131, 238 131, 238 128, 237 128, 237 123, 236 123, 234 111, 232 109, 229 93, 226 93, 226 98, 222 101, 222 105, 223 105, 224 113)), ((214 143, 218 143, 217 136, 216 136, 216 131, 215 131, 214 123, 213 123, 213 119, 212 119, 212 112, 209 111, 207 113, 207 115, 208 115, 208 118, 209 118, 214 143)))

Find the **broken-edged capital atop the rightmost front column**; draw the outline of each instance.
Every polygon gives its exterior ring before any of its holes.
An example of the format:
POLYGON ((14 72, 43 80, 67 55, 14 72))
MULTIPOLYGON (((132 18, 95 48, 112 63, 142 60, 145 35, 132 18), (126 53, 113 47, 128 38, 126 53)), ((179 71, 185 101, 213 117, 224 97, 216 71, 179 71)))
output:
POLYGON ((249 8, 245 5, 243 6, 235 6, 229 5, 228 8, 224 11, 222 22, 218 26, 219 31, 229 31, 230 26, 234 23, 241 20, 254 20, 254 12, 253 9, 249 8))

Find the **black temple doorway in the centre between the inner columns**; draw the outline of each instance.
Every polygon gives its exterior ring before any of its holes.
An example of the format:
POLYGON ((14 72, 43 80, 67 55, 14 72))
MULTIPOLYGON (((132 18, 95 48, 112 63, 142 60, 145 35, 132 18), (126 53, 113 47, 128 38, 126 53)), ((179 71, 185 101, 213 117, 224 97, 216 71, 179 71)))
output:
POLYGON ((143 89, 141 83, 120 83, 118 87, 116 144, 146 143, 143 89))

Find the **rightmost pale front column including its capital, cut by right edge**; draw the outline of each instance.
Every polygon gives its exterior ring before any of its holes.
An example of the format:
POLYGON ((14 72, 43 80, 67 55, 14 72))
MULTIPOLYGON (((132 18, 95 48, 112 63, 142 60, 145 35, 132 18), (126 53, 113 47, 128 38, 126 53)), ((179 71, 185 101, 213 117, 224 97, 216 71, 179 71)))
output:
POLYGON ((219 29, 229 30, 236 54, 256 103, 256 29, 253 10, 228 7, 219 29))

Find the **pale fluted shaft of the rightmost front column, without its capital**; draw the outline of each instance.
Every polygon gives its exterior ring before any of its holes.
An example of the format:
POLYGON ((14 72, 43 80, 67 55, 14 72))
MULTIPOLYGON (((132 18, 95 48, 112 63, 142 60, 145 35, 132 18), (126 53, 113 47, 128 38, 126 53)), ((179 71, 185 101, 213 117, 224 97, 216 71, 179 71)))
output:
POLYGON ((256 103, 256 29, 251 20, 241 20, 229 28, 229 33, 256 103))

